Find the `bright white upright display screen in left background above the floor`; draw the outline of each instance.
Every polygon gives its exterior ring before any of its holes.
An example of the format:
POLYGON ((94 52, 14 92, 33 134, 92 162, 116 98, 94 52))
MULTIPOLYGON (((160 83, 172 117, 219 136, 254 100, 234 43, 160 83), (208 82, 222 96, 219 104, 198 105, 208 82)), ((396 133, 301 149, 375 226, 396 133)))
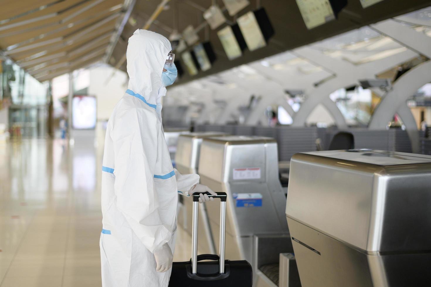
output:
POLYGON ((74 96, 72 99, 72 127, 76 130, 90 130, 96 127, 96 98, 74 96))

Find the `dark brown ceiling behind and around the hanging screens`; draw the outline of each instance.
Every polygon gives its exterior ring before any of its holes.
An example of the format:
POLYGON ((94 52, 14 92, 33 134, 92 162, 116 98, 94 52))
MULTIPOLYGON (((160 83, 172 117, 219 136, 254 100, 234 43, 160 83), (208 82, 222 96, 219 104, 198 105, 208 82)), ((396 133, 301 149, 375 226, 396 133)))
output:
MULTIPOLYGON (((125 25, 112 57, 109 59, 109 64, 117 65, 117 62, 126 52, 128 37, 136 29, 145 25, 160 2, 161 0, 136 1, 131 13, 131 19, 125 25)), ((212 3, 218 4, 221 8, 224 7, 222 0, 171 0, 149 30, 169 37, 172 31, 178 30, 181 33, 188 25, 193 25, 194 28, 197 28, 206 22, 203 18, 202 10, 208 9, 212 3)), ((206 25, 198 33, 200 42, 209 41, 217 59, 208 71, 199 71, 195 76, 190 76, 185 72, 179 83, 205 77, 430 5, 431 1, 429 0, 384 0, 363 9, 359 0, 348 0, 347 6, 340 11, 336 20, 308 30, 295 0, 250 0, 250 5, 241 10, 236 16, 229 16, 227 11, 224 12, 224 15, 228 22, 232 24, 236 22, 237 17, 250 10, 265 8, 275 30, 275 34, 270 38, 268 45, 253 52, 245 49, 241 57, 229 60, 217 36, 217 31, 229 24, 225 23, 216 30, 211 30, 206 25)), ((186 51, 191 49, 192 47, 187 47, 186 51)), ((178 59, 181 62, 180 54, 176 54, 176 60, 178 59)), ((126 71, 126 63, 120 68, 126 71)))

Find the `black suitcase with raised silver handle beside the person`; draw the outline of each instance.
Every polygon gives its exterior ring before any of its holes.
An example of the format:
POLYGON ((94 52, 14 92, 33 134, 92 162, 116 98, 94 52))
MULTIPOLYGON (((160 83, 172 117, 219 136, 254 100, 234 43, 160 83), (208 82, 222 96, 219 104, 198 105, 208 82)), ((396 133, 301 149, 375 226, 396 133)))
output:
MULTIPOLYGON (((206 192, 211 197, 212 195, 206 192)), ((217 193, 214 198, 220 198, 220 256, 202 254, 197 256, 197 213, 199 193, 193 194, 193 231, 192 256, 190 261, 173 262, 169 287, 251 287, 253 272, 246 260, 225 260, 225 224, 226 198, 225 192, 217 193), (200 262, 201 260, 214 260, 200 262), (224 262, 224 264, 222 264, 224 262)))

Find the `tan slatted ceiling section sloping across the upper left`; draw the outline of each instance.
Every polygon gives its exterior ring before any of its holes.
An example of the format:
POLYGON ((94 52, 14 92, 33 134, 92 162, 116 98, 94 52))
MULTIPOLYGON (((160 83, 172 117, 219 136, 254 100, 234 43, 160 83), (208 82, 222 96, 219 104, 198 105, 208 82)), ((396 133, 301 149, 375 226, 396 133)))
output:
POLYGON ((125 15, 125 0, 0 1, 0 49, 41 81, 102 59, 125 15))

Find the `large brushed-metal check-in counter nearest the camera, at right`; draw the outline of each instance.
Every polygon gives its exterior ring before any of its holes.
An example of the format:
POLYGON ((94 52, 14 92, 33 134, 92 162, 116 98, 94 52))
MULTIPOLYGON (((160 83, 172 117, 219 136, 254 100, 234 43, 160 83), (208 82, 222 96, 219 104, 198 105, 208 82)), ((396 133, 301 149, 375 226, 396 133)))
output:
POLYGON ((295 154, 286 216, 303 287, 431 286, 431 156, 295 154))

